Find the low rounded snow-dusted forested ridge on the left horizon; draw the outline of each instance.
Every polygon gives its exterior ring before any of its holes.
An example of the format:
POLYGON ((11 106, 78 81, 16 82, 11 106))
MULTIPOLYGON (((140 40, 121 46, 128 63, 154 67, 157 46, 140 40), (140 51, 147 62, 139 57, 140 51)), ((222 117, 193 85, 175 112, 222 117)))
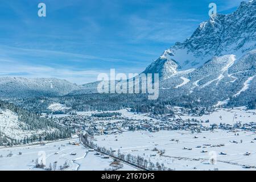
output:
POLYGON ((0 77, 0 97, 64 96, 79 86, 57 78, 0 77))

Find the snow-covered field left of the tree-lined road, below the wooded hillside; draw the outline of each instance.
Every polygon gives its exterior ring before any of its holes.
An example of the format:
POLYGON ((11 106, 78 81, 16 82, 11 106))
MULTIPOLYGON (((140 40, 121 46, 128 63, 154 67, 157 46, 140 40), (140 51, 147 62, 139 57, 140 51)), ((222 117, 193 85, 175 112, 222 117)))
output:
MULTIPOLYGON (((102 156, 94 155, 96 154, 95 151, 88 152, 88 148, 81 145, 75 146, 69 144, 69 142, 79 142, 79 139, 48 143, 45 146, 0 148, 0 170, 39 170, 35 168, 36 159, 39 159, 39 161, 45 159, 46 167, 49 167, 50 163, 53 166, 53 163, 57 162, 57 170, 65 162, 69 166, 65 170, 103 171, 112 168, 109 165, 113 162, 113 159, 102 159, 102 156), (22 155, 19 155, 19 152, 22 152, 22 155), (13 156, 7 157, 10 153, 13 156)), ((135 168, 123 164, 123 168, 120 170, 133 171, 135 168)))

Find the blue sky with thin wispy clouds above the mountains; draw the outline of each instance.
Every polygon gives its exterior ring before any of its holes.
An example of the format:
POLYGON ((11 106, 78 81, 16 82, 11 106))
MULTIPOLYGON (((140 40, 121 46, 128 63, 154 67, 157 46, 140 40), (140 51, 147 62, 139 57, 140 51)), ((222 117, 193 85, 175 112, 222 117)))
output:
POLYGON ((0 77, 56 77, 76 84, 100 73, 141 73, 165 49, 183 42, 241 0, 2 0, 0 77), (46 17, 38 4, 46 4, 46 17))

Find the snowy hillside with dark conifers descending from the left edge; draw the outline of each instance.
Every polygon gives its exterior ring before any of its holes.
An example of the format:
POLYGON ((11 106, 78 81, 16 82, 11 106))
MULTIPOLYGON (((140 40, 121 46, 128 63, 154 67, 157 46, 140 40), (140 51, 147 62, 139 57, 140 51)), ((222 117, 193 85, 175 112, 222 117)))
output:
POLYGON ((55 122, 0 101, 0 146, 4 143, 27 144, 68 137, 71 133, 55 122))

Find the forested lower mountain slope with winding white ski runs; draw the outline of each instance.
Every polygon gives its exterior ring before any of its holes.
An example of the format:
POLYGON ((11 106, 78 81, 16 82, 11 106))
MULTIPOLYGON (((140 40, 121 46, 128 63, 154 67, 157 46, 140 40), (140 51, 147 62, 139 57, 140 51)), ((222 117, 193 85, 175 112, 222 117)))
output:
POLYGON ((256 50, 238 59, 234 55, 214 57, 197 69, 177 72, 160 82, 161 95, 166 100, 183 98, 181 104, 247 105, 256 98, 255 60, 256 50))

